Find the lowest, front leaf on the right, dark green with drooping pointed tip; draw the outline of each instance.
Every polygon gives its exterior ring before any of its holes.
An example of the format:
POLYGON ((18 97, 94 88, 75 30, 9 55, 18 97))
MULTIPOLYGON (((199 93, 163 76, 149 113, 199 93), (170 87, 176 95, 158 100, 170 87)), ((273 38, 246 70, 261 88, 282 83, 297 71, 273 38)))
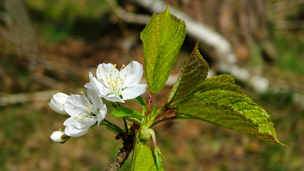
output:
POLYGON ((261 132, 256 123, 232 107, 218 103, 180 104, 178 113, 198 120, 206 121, 224 128, 253 136, 276 144, 285 145, 267 132, 261 132))

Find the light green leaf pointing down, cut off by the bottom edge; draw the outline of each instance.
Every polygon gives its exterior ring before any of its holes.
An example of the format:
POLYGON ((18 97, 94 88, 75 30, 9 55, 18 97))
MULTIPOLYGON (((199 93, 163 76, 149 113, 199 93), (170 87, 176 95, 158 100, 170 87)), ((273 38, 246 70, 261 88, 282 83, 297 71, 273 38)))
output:
MULTIPOLYGON (((138 133, 136 133, 133 148, 133 157, 131 164, 131 171, 155 171, 157 170, 156 159, 150 147, 144 142, 138 141, 138 133)), ((161 168, 160 170, 164 170, 161 168)))

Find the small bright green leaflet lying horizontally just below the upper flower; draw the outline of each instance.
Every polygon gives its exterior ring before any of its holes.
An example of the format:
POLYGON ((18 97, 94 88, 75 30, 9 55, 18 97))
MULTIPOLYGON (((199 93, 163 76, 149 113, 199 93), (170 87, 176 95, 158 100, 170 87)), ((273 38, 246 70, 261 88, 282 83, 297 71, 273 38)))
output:
POLYGON ((117 118, 121 117, 128 117, 128 118, 147 118, 138 111, 119 106, 118 108, 115 108, 110 115, 113 115, 117 118))

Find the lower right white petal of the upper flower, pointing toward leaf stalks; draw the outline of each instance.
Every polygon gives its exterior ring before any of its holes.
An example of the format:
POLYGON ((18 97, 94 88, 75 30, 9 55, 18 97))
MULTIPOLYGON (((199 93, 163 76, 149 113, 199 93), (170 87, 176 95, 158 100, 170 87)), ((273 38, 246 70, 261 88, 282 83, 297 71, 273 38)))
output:
POLYGON ((147 84, 137 84, 133 87, 126 88, 121 92, 123 100, 133 99, 146 92, 147 84))

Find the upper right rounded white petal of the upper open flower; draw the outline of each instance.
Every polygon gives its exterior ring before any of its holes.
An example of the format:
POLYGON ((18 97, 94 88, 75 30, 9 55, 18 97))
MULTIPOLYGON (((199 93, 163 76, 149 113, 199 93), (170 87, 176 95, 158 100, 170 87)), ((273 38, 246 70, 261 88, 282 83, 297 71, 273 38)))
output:
POLYGON ((135 86, 136 84, 139 83, 141 77, 143 76, 143 65, 136 61, 132 61, 121 70, 120 75, 125 75, 125 74, 127 76, 126 79, 124 80, 124 86, 125 87, 135 86))

